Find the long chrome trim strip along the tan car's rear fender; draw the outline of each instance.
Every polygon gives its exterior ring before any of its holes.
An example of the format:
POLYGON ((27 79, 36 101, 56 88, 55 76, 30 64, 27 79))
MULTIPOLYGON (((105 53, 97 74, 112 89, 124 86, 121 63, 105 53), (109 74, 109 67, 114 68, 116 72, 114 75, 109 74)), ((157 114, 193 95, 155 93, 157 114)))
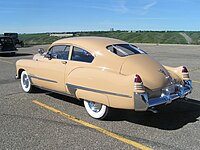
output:
POLYGON ((113 92, 107 92, 107 91, 102 91, 102 90, 96 90, 96 89, 91 89, 91 88, 82 87, 82 86, 73 85, 73 84, 66 84, 66 86, 67 86, 69 89, 74 89, 74 90, 82 89, 82 90, 91 91, 91 92, 97 92, 97 93, 101 93, 101 94, 109 94, 109 95, 115 95, 115 96, 121 96, 121 97, 132 98, 132 96, 125 95, 125 94, 118 94, 118 93, 113 93, 113 92))

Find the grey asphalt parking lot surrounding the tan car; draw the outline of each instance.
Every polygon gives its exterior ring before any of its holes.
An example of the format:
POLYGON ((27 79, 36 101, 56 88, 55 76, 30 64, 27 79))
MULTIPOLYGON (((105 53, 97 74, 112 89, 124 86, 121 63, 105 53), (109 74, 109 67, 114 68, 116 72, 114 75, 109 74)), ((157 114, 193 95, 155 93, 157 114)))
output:
POLYGON ((200 46, 136 44, 164 65, 186 65, 193 92, 188 100, 160 106, 158 114, 113 110, 110 120, 92 119, 73 98, 24 93, 15 62, 39 47, 0 56, 0 149, 200 149, 200 46))

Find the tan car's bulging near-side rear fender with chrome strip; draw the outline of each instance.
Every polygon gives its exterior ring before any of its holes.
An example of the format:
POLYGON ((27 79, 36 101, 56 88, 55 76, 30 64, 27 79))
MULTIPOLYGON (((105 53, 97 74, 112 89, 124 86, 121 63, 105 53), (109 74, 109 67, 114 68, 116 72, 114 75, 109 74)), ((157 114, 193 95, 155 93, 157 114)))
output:
POLYGON ((125 76, 102 68, 77 68, 66 81, 67 91, 78 99, 134 109, 133 75, 125 76))

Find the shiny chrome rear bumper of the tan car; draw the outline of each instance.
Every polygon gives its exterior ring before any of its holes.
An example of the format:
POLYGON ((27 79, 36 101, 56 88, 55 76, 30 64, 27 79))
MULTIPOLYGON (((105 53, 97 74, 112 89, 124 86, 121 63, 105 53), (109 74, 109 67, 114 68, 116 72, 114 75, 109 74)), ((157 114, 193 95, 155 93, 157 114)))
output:
POLYGON ((184 98, 192 91, 192 81, 185 80, 184 85, 175 84, 174 92, 171 93, 168 87, 162 90, 162 94, 158 98, 149 99, 148 94, 134 92, 134 107, 135 111, 146 111, 148 108, 158 106, 161 104, 169 104, 178 98, 184 98))

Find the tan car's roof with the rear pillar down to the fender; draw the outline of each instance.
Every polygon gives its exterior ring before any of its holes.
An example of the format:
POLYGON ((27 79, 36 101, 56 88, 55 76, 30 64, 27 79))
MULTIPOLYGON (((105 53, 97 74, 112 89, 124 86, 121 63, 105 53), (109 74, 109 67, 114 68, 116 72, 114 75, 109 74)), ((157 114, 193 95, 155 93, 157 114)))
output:
POLYGON ((107 49, 107 46, 113 44, 128 44, 127 42, 118 39, 96 36, 65 38, 54 42, 50 48, 54 45, 62 44, 74 45, 89 51, 95 57, 92 62, 93 65, 112 68, 112 71, 119 72, 122 63, 127 59, 127 57, 120 57, 107 49))

